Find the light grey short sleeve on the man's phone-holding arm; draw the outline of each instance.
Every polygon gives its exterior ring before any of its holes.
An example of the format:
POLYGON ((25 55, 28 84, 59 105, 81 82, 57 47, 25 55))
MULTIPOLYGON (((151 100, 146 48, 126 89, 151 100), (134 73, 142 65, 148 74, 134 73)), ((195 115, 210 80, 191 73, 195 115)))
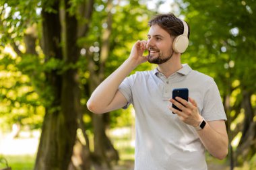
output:
POLYGON ((208 83, 203 98, 203 118, 207 121, 227 120, 218 86, 214 79, 210 79, 208 83))

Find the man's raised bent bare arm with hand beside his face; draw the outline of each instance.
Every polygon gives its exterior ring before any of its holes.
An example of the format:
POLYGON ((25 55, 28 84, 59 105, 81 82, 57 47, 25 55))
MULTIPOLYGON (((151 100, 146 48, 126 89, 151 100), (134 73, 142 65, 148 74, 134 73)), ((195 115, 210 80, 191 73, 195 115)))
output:
POLYGON ((118 90, 122 81, 142 62, 148 58, 143 56, 146 50, 146 41, 137 41, 131 50, 131 54, 125 62, 109 77, 107 77, 92 93, 87 102, 87 107, 95 114, 103 114, 122 108, 127 104, 127 99, 118 90))

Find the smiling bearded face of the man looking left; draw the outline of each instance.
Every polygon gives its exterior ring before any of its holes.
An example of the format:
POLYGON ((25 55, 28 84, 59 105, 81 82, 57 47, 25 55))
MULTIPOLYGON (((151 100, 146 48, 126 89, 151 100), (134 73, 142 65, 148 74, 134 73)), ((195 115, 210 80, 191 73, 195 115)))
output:
POLYGON ((148 62, 160 65, 172 57, 172 41, 173 38, 166 30, 157 24, 150 27, 148 32, 147 48, 150 52, 148 62))

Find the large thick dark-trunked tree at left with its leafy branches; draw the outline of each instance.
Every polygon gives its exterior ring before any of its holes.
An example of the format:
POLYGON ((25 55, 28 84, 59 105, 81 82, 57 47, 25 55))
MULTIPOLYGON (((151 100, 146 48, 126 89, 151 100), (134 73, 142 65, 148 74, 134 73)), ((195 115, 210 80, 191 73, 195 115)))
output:
MULTIPOLYGON (((86 7, 92 4, 92 1, 88 2, 82 5, 86 7)), ((24 73, 36 81, 36 88, 40 91, 46 110, 35 169, 67 169, 70 163, 77 118, 81 114, 79 81, 75 66, 79 58, 79 47, 76 42, 79 36, 84 36, 88 28, 84 26, 77 32, 77 18, 73 10, 79 5, 78 1, 19 1, 17 6, 16 1, 8 1, 2 6, 4 35, 9 37, 15 35, 15 31, 20 31, 13 40, 6 41, 6 44, 11 44, 13 50, 22 56, 21 64, 26 64, 27 69, 24 73), (24 35, 24 30, 32 29, 32 24, 40 25, 40 22, 33 18, 36 16, 40 19, 36 14, 38 9, 41 9, 42 16, 40 44, 36 44, 36 38, 40 37, 34 37, 33 32, 24 35), (13 13, 17 13, 18 19, 12 19, 13 13), (17 24, 18 22, 22 24, 17 24), (17 46, 18 39, 24 42, 25 52, 17 46), (37 45, 42 47, 43 60, 38 56, 37 45), (38 68, 29 68, 28 64, 38 68), (38 73, 39 69, 42 69, 43 75, 38 73)), ((87 19, 90 19, 90 15, 91 13, 86 11, 87 19)))

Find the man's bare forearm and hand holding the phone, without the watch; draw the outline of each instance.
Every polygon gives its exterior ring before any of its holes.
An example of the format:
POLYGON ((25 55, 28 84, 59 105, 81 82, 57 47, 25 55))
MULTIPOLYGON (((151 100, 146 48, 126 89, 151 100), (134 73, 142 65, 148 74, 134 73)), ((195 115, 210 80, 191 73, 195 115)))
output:
MULTIPOLYGON (((170 102, 181 109, 182 112, 175 110, 171 106, 169 106, 169 109, 177 114, 185 124, 197 127, 203 119, 198 112, 197 103, 191 97, 189 97, 190 102, 181 97, 176 97, 176 99, 183 105, 174 99, 170 99, 170 102)), ((218 159, 226 157, 228 154, 228 134, 224 120, 206 122, 205 127, 202 130, 197 130, 197 133, 211 155, 218 159)))

